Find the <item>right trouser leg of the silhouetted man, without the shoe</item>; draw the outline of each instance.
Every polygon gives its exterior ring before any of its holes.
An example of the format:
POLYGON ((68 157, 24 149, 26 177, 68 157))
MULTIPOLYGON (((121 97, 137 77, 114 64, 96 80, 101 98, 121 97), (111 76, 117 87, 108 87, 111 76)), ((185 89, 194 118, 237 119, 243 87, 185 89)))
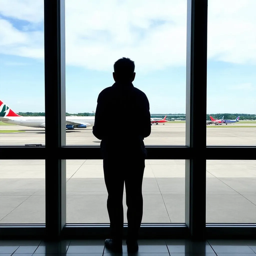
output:
POLYGON ((128 233, 127 242, 136 243, 143 214, 142 179, 145 159, 130 160, 129 170, 125 173, 128 233))

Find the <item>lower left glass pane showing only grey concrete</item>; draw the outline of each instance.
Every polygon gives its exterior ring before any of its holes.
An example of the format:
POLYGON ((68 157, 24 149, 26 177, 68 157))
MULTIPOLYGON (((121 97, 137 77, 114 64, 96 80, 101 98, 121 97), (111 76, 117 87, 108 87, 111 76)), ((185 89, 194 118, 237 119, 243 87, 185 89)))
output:
POLYGON ((0 160, 0 224, 45 223, 45 160, 0 160))

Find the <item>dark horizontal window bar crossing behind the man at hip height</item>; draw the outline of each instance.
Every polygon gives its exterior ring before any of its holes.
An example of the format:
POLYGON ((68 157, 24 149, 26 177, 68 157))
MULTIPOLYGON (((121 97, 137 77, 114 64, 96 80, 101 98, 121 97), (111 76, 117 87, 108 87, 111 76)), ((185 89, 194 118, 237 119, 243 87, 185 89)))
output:
MULTIPOLYGON (((254 160, 256 159, 256 147, 227 147, 208 146, 202 149, 194 149, 185 146, 146 146, 147 159, 193 159, 202 155, 209 160, 254 160), (202 152, 205 151, 205 154, 202 152)), ((1 146, 1 159, 102 159, 99 146, 65 146, 57 148, 55 154, 48 154, 44 146, 1 146)))

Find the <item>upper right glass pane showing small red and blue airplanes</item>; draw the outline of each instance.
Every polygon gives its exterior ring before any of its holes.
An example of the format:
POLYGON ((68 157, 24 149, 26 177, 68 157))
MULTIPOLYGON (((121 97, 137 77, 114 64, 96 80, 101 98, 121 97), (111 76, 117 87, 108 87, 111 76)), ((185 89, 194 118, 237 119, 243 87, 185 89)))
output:
POLYGON ((255 8, 208 1, 207 145, 256 145, 255 8))

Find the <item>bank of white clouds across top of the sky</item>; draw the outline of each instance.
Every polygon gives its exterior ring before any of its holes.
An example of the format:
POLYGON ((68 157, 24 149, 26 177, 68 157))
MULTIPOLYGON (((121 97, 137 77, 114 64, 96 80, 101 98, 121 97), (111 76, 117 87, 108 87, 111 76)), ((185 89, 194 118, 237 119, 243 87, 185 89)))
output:
MULTIPOLYGON (((66 63, 112 70, 125 56, 137 71, 185 66, 186 2, 66 0, 66 63)), ((255 9, 255 0, 208 1, 209 59, 256 63, 255 9)), ((43 10, 42 0, 0 0, 2 15, 32 27, 43 21, 43 10)), ((0 19, 1 53, 43 58, 43 39, 42 31, 21 31, 0 19)))

